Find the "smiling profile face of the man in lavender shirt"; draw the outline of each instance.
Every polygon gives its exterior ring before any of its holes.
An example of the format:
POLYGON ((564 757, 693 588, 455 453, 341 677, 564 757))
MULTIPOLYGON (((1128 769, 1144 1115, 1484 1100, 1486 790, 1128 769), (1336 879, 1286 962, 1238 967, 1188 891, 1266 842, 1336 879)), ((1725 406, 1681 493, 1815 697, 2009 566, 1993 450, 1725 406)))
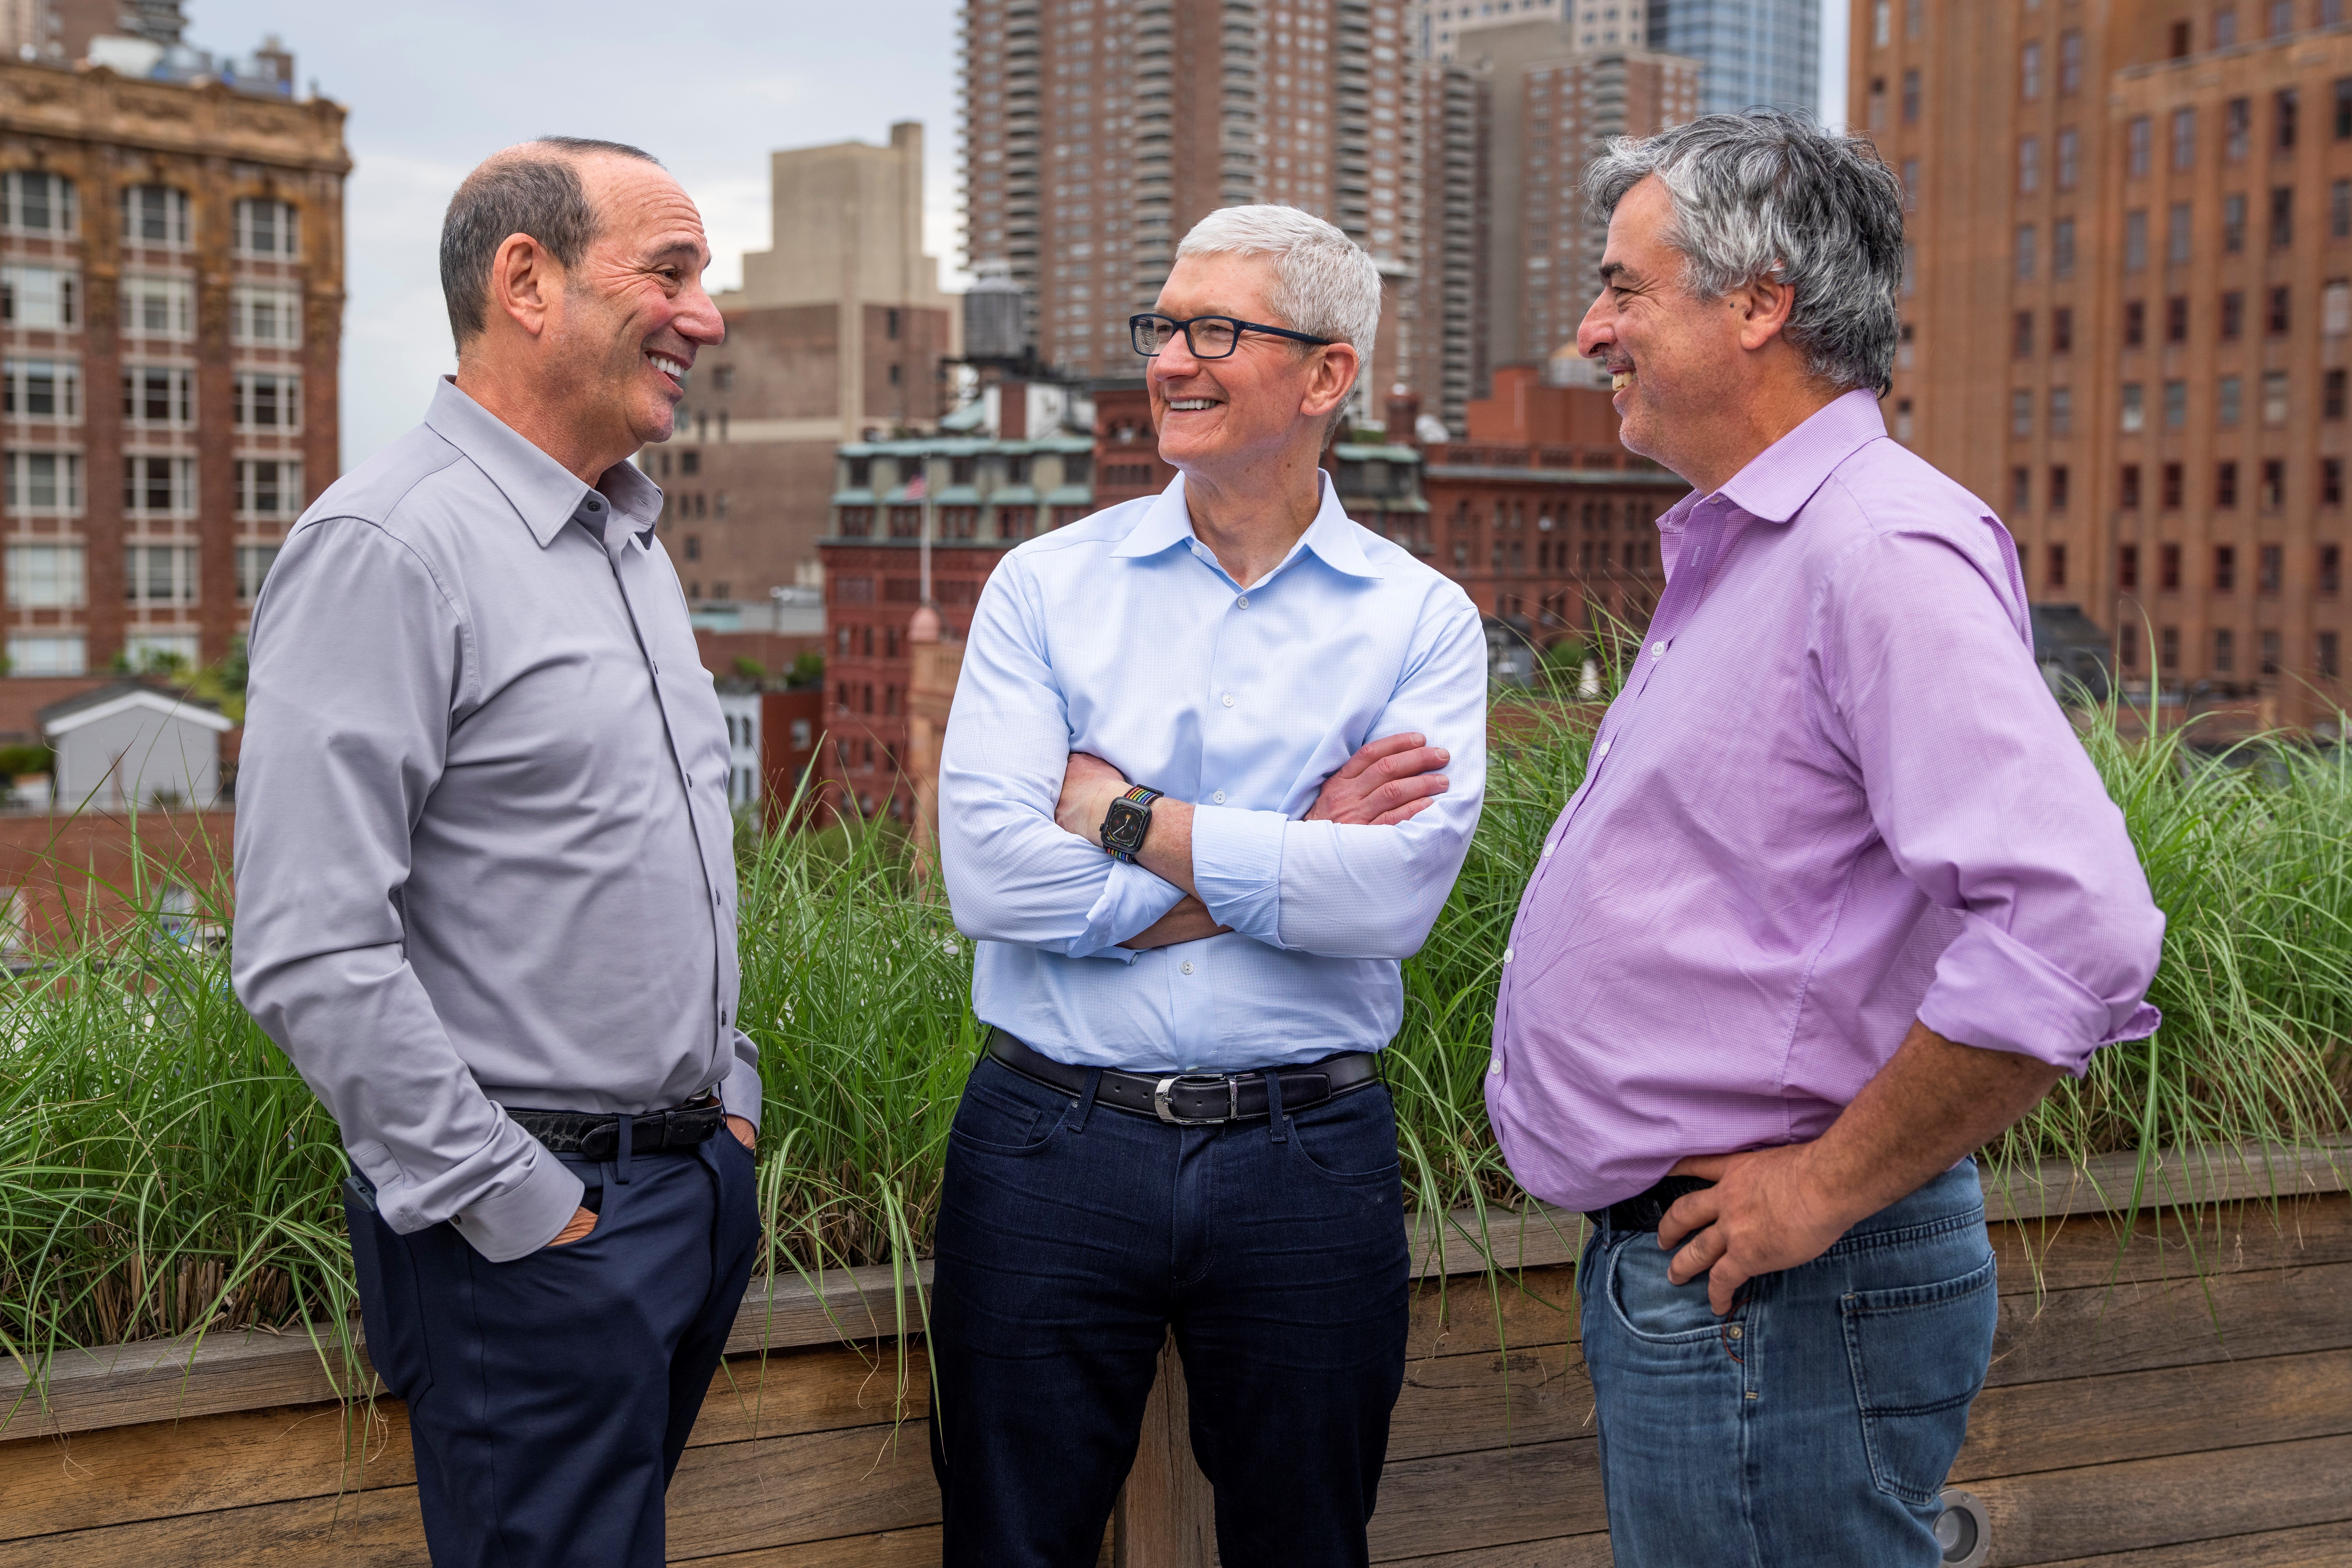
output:
POLYGON ((1609 367, 1618 440, 1691 477, 1696 449, 1748 378, 1743 296, 1693 299, 1668 244, 1675 207, 1653 174, 1618 200, 1602 252, 1602 292, 1576 329, 1576 353, 1609 367))

